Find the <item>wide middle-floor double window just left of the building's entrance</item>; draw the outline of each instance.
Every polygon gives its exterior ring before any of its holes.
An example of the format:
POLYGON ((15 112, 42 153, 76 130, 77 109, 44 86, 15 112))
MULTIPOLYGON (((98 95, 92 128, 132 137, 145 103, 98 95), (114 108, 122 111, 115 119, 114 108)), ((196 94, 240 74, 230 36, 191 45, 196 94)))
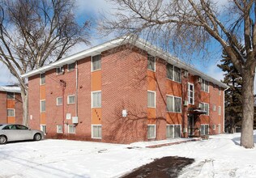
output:
POLYGON ((166 107, 168 112, 181 112, 181 98, 167 95, 166 107))

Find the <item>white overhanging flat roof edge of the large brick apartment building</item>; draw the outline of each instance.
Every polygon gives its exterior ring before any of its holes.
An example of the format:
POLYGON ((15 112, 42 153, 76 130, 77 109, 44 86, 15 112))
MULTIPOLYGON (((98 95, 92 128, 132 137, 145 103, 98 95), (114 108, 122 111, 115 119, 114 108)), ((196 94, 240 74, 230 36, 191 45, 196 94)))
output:
POLYGON ((177 57, 171 56, 170 53, 166 53, 162 49, 156 48, 156 46, 150 44, 146 40, 143 40, 140 38, 133 40, 132 38, 129 38, 127 36, 122 36, 122 37, 116 38, 114 40, 109 40, 103 44, 99 44, 90 49, 86 49, 79 53, 70 55, 69 57, 63 57, 61 60, 54 61, 53 63, 50 63, 47 66, 42 66, 41 68, 38 68, 36 70, 31 70, 26 74, 22 74, 21 77, 28 78, 28 77, 31 77, 36 74, 43 74, 43 73, 45 73, 45 71, 52 70, 56 67, 60 67, 60 66, 66 65, 66 64, 71 64, 75 61, 79 61, 79 60, 83 59, 84 57, 95 56, 95 55, 100 54, 106 50, 113 49, 122 44, 133 44, 135 47, 147 51, 147 53, 149 53, 152 56, 160 57, 160 58, 164 59, 165 61, 169 62, 170 64, 173 64, 174 66, 180 67, 184 70, 188 70, 190 74, 198 75, 201 78, 203 78, 211 83, 215 83, 220 87, 224 87, 224 88, 228 87, 224 83, 221 83, 219 80, 216 80, 215 78, 211 78, 207 74, 203 74, 203 72, 195 69, 194 66, 190 66, 189 64, 186 64, 185 62, 180 61, 177 57))

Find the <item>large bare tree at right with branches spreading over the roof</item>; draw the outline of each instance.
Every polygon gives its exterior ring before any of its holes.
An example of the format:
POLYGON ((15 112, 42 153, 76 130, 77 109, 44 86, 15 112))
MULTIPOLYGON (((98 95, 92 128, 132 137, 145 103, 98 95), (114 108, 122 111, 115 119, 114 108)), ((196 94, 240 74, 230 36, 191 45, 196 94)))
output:
MULTIPOLYGON (((160 44, 172 44, 174 52, 207 51, 215 40, 243 78, 241 146, 254 147, 254 72, 256 53, 256 1, 233 0, 216 6, 212 0, 112 0, 114 18, 101 24, 105 34, 136 34, 160 44), (222 13, 220 13, 221 11, 222 13), (160 38, 162 37, 162 38, 160 38), (244 44, 245 53, 239 43, 244 44)), ((169 45, 165 45, 169 49, 169 45)))

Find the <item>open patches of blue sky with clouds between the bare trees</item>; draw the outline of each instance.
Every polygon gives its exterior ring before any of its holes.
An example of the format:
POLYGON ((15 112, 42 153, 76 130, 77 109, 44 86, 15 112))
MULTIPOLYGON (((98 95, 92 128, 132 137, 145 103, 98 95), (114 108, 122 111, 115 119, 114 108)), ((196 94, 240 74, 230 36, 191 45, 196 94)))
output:
MULTIPOLYGON (((220 8, 224 6, 227 1, 228 0, 215 0, 215 2, 218 2, 220 4, 220 8)), ((105 0, 77 0, 76 6, 77 8, 75 9, 75 13, 79 21, 83 21, 84 19, 92 20, 92 46, 111 39, 111 36, 109 36, 108 39, 102 39, 97 37, 96 21, 100 20, 100 13, 109 13, 111 11, 114 11, 113 8, 115 7, 115 5, 113 3, 107 2, 105 0)), ((70 54, 79 52, 87 48, 88 46, 85 46, 84 44, 78 44, 70 51, 70 54)), ((216 65, 220 63, 221 49, 217 44, 213 44, 211 48, 212 51, 215 51, 215 53, 211 57, 210 61, 204 61, 202 57, 193 57, 193 60, 190 64, 196 67, 198 70, 201 70, 204 73, 210 75, 211 77, 220 80, 223 79, 223 72, 216 65)), ((183 60, 186 61, 186 59, 183 60)), ((16 79, 13 78, 12 75, 8 72, 6 66, 0 63, 0 86, 12 84, 15 82, 16 79)))

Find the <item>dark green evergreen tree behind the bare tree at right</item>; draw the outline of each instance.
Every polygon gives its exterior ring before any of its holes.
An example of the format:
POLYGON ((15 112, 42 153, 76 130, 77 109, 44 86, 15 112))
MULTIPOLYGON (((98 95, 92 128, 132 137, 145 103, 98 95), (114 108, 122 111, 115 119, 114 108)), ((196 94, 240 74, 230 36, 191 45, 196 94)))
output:
MULTIPOLYGON (((241 45, 240 47, 242 49, 241 45)), ((242 78, 225 51, 223 51, 222 57, 222 64, 218 65, 218 67, 225 73, 222 82, 229 87, 225 92, 225 128, 228 129, 228 133, 234 133, 235 127, 241 126, 242 78)))

